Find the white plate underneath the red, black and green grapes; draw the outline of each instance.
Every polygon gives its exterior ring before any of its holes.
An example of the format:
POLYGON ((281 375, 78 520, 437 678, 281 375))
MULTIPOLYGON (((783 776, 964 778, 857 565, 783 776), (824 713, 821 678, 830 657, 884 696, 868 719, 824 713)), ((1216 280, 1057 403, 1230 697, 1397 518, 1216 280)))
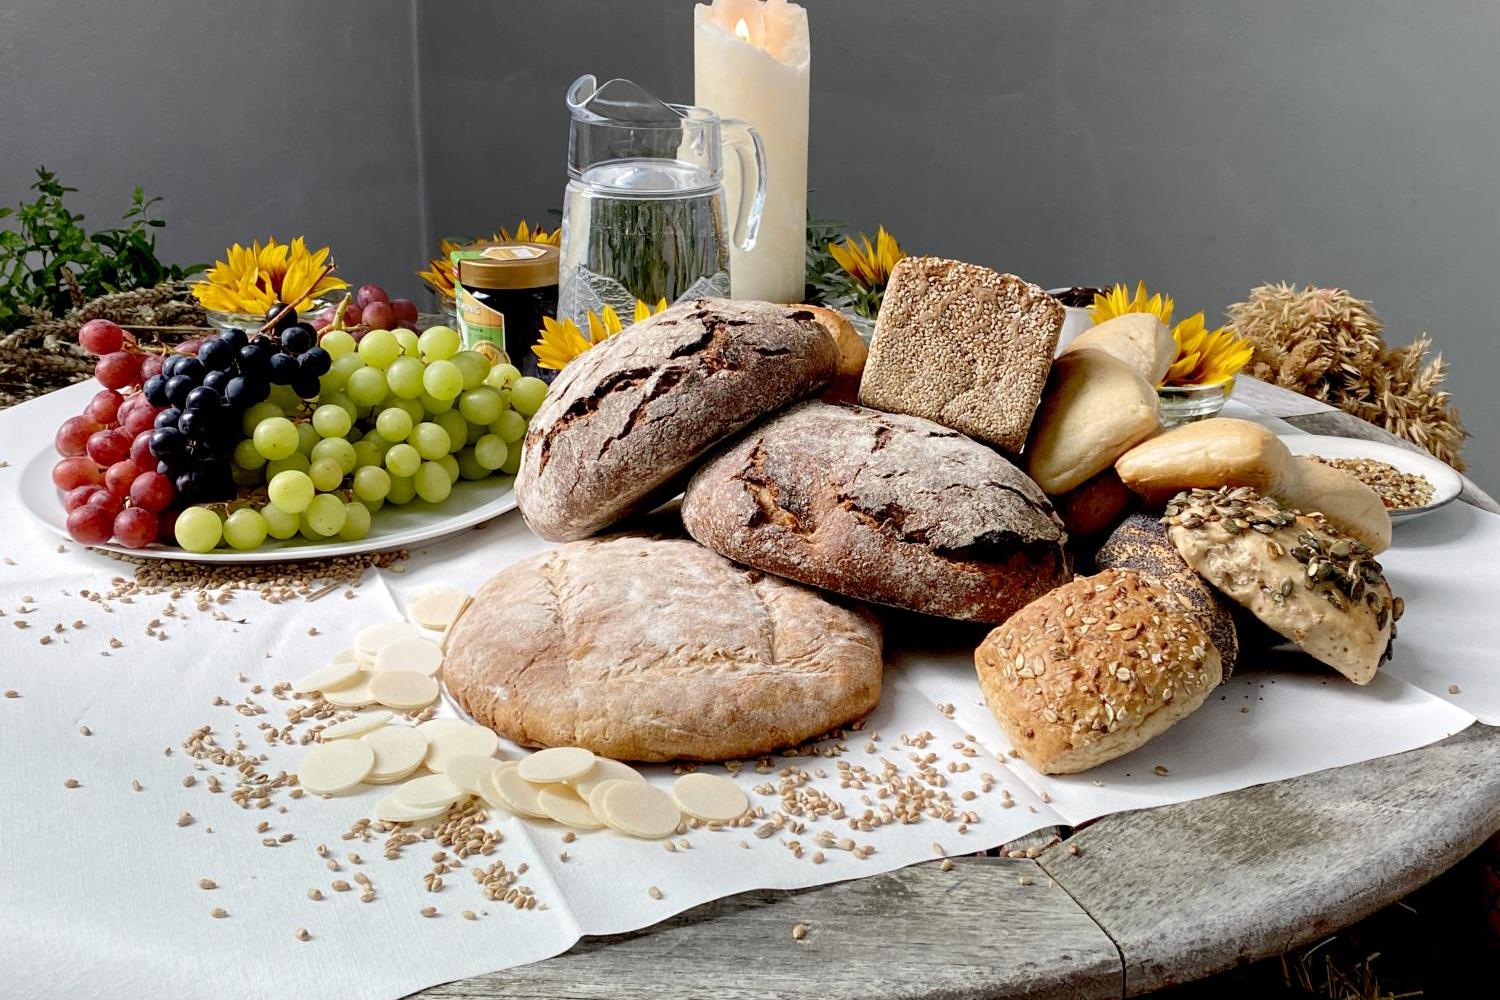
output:
MULTIPOLYGON (((52 450, 51 436, 48 436, 40 451, 21 468, 21 504, 46 531, 70 540, 68 514, 63 511, 63 495, 52 486, 52 466, 56 463, 57 453, 52 450)), ((459 480, 453 484, 453 493, 441 504, 423 501, 411 501, 405 507, 387 504, 376 511, 370 523, 370 534, 360 541, 309 541, 302 537, 278 541, 267 538, 266 544, 254 552, 214 549, 198 555, 160 544, 152 544, 146 549, 126 549, 112 543, 93 547, 138 559, 182 559, 184 562, 290 562, 410 549, 423 541, 474 528, 490 517, 514 510, 513 483, 514 478, 508 475, 478 481, 459 480)))

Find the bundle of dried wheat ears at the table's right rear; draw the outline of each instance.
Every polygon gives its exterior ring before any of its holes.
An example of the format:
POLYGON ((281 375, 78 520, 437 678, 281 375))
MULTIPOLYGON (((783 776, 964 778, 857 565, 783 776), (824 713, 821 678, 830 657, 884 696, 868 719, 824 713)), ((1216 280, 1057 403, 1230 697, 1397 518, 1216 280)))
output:
POLYGON ((1464 424, 1440 388, 1443 357, 1426 334, 1388 348, 1368 301, 1342 288, 1262 285, 1228 307, 1228 322, 1256 354, 1246 372, 1322 399, 1462 471, 1464 424))

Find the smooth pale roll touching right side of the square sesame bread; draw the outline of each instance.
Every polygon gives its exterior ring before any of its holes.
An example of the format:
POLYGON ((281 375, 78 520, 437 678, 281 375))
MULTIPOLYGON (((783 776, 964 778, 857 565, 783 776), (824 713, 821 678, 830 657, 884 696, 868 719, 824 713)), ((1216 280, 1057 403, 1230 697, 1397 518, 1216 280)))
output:
POLYGON ((1048 493, 1066 493, 1160 426, 1150 382, 1101 351, 1070 351, 1047 378, 1026 471, 1048 493))

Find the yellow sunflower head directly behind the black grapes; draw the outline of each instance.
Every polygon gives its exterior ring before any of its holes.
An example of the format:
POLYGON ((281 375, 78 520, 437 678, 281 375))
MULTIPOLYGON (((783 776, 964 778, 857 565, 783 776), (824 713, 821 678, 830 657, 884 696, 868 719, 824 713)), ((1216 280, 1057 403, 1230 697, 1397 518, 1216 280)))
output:
POLYGON ((192 286, 204 309, 261 315, 276 303, 300 306, 324 292, 348 288, 336 277, 328 247, 309 250, 297 237, 291 244, 267 238, 266 244, 236 243, 225 250, 225 261, 214 261, 204 280, 192 286))

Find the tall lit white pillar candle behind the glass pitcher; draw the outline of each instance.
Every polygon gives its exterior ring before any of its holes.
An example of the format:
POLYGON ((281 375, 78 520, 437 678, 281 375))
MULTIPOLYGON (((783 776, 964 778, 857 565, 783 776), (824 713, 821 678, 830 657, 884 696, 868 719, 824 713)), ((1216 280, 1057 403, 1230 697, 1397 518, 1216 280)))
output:
MULTIPOLYGON (((730 240, 735 298, 802 300, 807 271, 807 10, 788 0, 712 0, 693 9, 693 102, 748 121, 765 142, 765 208, 754 249, 730 240)), ((740 177, 726 168, 734 222, 740 177)))

